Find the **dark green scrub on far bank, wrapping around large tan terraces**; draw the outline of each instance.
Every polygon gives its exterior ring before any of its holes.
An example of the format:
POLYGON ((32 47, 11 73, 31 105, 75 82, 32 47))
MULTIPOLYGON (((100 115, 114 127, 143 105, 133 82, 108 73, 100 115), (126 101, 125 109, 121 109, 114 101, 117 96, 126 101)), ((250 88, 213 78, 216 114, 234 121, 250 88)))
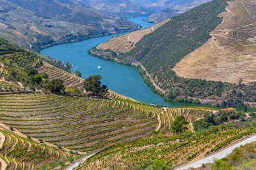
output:
MULTIPOLYGON (((243 106, 245 102, 256 102, 255 83, 185 79, 172 71, 179 60, 211 38, 210 32, 222 22, 218 15, 224 11, 226 4, 226 0, 214 0, 172 17, 170 22, 139 41, 130 52, 112 57, 118 57, 126 64, 141 62, 170 100, 206 99, 201 101, 222 106, 243 106)), ((158 91, 141 67, 139 71, 146 83, 158 91)))

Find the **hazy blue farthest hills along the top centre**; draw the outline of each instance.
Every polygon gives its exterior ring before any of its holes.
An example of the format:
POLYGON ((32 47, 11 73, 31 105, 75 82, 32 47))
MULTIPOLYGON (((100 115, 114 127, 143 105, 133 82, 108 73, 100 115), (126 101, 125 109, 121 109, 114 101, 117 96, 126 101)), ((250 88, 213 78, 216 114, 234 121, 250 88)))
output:
MULTIPOLYGON (((123 17, 136 17, 141 15, 152 15, 153 13, 162 13, 166 8, 175 7, 181 9, 191 9, 195 4, 210 1, 210 0, 65 0, 65 1, 78 1, 84 3, 88 7, 112 13, 123 17), (183 5, 185 5, 183 7, 183 5), (190 8, 187 8, 190 6, 190 8)), ((154 15, 154 14, 153 14, 154 15)), ((168 15, 170 17, 172 15, 168 15)), ((167 19, 167 18, 166 18, 167 19)), ((161 21, 164 20, 164 16, 161 21)), ((159 22, 159 21, 158 21, 159 22)))

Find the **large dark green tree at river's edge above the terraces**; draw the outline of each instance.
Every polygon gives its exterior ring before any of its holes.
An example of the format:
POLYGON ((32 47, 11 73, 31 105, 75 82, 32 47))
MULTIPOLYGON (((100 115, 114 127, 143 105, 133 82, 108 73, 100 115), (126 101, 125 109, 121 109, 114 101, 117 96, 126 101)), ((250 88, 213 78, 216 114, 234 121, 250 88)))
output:
POLYGON ((100 75, 89 76, 88 79, 84 81, 84 88, 86 91, 91 91, 94 95, 104 94, 108 91, 106 85, 101 85, 100 75))

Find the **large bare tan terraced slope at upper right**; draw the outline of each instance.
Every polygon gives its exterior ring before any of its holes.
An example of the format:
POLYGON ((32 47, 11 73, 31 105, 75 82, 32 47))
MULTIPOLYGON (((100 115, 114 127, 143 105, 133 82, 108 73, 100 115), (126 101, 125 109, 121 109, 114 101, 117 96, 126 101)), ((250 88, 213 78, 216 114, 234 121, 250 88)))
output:
POLYGON ((256 81, 256 2, 230 1, 212 38, 174 67, 180 77, 244 83, 256 81))

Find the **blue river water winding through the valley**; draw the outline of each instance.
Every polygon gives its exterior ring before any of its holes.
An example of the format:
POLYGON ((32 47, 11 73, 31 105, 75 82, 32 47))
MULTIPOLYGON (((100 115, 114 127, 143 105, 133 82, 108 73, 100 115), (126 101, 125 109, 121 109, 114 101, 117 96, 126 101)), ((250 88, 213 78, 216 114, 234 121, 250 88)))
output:
MULTIPOLYGON (((145 18, 135 17, 129 20, 140 24, 142 28, 152 26, 153 24, 143 21, 145 18)), ((45 48, 40 53, 57 60, 69 62, 71 65, 74 65, 71 71, 80 71, 84 78, 90 75, 100 75, 102 77, 102 83, 107 85, 109 89, 136 99, 137 101, 170 107, 194 105, 191 103, 167 102, 146 85, 135 67, 121 65, 117 62, 103 60, 88 54, 88 50, 91 48, 118 35, 120 34, 91 38, 81 42, 59 44, 45 48), (102 69, 98 69, 98 66, 101 66, 102 69)))

